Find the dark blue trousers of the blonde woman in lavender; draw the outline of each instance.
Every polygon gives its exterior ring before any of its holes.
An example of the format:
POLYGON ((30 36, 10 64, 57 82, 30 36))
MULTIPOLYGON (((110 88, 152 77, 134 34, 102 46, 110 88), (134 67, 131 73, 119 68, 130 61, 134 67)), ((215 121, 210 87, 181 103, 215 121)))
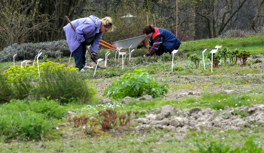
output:
POLYGON ((86 54, 86 48, 83 45, 80 45, 77 49, 73 51, 75 65, 77 68, 79 68, 79 70, 81 70, 83 66, 85 66, 85 60, 86 60, 85 54, 86 54))

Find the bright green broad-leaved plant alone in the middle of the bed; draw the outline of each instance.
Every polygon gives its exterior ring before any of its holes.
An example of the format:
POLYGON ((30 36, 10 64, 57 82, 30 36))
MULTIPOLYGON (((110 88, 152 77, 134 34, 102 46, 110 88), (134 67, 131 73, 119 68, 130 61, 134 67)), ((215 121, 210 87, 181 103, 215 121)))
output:
POLYGON ((114 80, 104 91, 113 99, 130 97, 140 97, 151 95, 153 98, 164 96, 168 92, 168 85, 159 85, 157 80, 149 76, 146 69, 135 69, 133 73, 125 73, 122 77, 114 80))

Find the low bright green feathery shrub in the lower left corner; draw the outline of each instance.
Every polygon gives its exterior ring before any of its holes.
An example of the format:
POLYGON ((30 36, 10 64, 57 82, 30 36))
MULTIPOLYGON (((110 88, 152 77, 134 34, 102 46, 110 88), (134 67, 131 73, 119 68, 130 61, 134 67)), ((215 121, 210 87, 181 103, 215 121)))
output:
POLYGON ((5 141, 40 140, 55 127, 53 119, 60 119, 65 113, 63 106, 54 100, 11 100, 0 107, 0 135, 5 141))

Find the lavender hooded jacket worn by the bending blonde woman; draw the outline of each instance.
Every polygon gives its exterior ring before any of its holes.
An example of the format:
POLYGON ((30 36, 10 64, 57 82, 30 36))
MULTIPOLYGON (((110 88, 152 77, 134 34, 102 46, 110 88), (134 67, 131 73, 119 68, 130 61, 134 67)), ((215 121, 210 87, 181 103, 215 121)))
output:
MULTIPOLYGON (((85 39, 95 36, 96 33, 99 33, 102 20, 94 15, 90 15, 87 18, 80 18, 72 21, 73 26, 76 31, 73 30, 70 23, 63 27, 64 32, 66 33, 66 40, 69 45, 70 51, 73 52, 77 49, 85 39)), ((103 32, 94 39, 94 42, 91 44, 91 53, 98 53, 97 49, 100 45, 100 40, 102 39, 103 32)))

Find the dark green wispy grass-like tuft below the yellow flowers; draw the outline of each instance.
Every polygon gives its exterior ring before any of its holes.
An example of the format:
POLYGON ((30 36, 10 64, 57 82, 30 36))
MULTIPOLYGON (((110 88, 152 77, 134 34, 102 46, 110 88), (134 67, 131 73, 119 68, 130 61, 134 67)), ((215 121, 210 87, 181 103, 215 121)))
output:
POLYGON ((80 73, 59 68, 46 67, 36 87, 30 92, 29 99, 50 96, 61 103, 73 101, 89 102, 95 93, 80 73))

